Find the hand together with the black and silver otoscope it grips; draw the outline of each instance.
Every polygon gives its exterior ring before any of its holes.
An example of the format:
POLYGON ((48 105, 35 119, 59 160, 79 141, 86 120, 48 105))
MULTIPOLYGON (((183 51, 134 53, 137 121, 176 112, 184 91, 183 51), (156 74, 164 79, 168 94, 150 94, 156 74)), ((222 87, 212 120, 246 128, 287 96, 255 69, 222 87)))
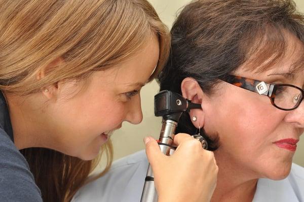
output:
POLYGON ((202 143, 188 134, 174 134, 181 114, 191 109, 201 109, 201 105, 170 91, 155 96, 155 115, 163 117, 163 125, 159 146, 156 141, 146 146, 150 164, 141 202, 210 200, 217 175, 213 153, 202 148, 205 142, 201 136, 196 139, 202 143), (178 147, 169 156, 173 143, 178 147))

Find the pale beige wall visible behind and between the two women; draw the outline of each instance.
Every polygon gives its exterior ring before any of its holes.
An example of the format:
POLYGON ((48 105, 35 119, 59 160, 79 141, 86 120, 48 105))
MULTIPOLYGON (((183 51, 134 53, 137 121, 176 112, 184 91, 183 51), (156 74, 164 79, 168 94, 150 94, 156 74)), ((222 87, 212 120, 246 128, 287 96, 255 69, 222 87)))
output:
MULTIPOLYGON (((176 12, 189 0, 149 0, 156 8, 160 18, 171 27, 176 12)), ((304 12, 304 1, 295 1, 298 10, 304 12)), ((152 83, 143 87, 141 91, 143 121, 139 125, 124 123, 122 129, 116 131, 111 137, 114 145, 114 158, 118 159, 138 150, 144 149, 143 138, 153 136, 158 139, 161 127, 161 118, 154 116, 154 95, 159 91, 158 84, 152 83)), ((298 143, 294 162, 304 166, 304 135, 298 143)))

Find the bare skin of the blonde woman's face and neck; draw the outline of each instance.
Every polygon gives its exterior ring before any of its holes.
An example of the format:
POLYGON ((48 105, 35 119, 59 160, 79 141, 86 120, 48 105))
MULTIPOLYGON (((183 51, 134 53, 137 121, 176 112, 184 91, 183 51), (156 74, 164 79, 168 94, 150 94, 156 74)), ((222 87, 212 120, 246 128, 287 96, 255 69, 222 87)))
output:
POLYGON ((77 93, 83 84, 61 81, 26 99, 6 94, 17 148, 45 147, 93 159, 106 142, 102 133, 120 128, 124 121, 142 121, 139 91, 158 58, 154 36, 129 60, 93 73, 81 92, 77 93))

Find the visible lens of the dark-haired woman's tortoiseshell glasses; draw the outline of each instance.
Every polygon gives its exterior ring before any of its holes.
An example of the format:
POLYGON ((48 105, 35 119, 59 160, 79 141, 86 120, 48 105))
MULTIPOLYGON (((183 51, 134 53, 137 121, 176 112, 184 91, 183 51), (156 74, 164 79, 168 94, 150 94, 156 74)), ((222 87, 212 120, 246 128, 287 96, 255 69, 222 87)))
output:
POLYGON ((294 108, 302 99, 302 92, 292 86, 278 86, 275 96, 275 105, 283 109, 294 108))

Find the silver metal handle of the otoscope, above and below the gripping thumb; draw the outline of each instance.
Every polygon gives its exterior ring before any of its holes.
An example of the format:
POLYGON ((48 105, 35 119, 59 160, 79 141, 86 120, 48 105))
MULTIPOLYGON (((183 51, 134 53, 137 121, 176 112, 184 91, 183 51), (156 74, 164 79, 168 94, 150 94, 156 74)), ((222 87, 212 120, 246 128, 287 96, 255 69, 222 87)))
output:
MULTIPOLYGON (((163 125, 161 129, 159 146, 163 154, 169 156, 170 150, 173 149, 172 144, 174 140, 174 133, 177 126, 177 122, 172 120, 163 120, 163 125)), ((149 164, 145 183, 143 186, 143 191, 141 195, 141 202, 157 202, 158 194, 154 185, 154 174, 152 168, 149 164)))

